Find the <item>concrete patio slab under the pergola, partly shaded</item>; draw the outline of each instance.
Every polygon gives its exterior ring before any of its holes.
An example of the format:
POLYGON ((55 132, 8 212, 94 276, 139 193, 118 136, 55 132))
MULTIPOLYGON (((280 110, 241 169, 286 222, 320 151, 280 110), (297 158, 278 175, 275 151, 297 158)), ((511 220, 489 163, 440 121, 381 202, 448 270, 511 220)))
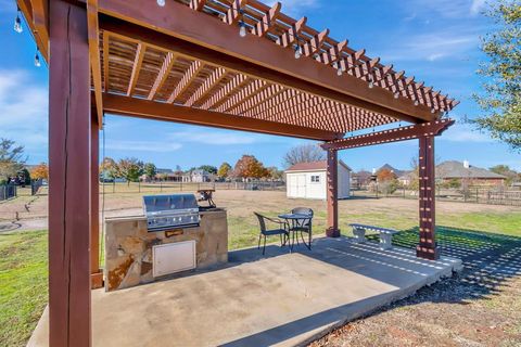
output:
MULTIPOLYGON (((92 292, 93 346, 295 346, 450 277, 461 261, 317 239, 312 250, 230 252, 227 267, 92 292)), ((47 310, 46 310, 47 311, 47 310)), ((43 314, 29 346, 47 346, 43 314)))

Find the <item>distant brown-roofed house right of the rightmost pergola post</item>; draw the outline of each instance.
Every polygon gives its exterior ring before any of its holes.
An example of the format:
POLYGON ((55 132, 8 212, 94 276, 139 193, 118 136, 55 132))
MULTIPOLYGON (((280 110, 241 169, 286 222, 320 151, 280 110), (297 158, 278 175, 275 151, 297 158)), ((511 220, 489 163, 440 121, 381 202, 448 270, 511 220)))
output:
POLYGON ((469 162, 443 162, 436 166, 436 179, 442 182, 460 180, 473 185, 503 185, 507 179, 487 169, 475 167, 469 162))

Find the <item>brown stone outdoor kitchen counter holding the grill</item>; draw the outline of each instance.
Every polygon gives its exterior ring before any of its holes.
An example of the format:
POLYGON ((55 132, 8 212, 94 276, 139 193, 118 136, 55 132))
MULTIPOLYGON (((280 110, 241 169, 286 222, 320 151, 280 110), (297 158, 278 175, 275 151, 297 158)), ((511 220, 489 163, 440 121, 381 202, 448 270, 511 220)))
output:
POLYGON ((105 291, 153 282, 152 247, 195 241, 196 268, 228 261, 228 222, 223 208, 201 211, 201 223, 193 228, 149 232, 147 217, 105 219, 105 291))

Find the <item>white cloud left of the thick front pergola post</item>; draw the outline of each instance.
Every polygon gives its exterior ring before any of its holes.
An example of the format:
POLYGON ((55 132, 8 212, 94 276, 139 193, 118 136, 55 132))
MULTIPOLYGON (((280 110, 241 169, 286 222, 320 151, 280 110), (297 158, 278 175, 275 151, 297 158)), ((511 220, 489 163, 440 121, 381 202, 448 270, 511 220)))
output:
POLYGON ((30 163, 47 158, 48 91, 25 70, 0 69, 0 138, 24 145, 30 163))

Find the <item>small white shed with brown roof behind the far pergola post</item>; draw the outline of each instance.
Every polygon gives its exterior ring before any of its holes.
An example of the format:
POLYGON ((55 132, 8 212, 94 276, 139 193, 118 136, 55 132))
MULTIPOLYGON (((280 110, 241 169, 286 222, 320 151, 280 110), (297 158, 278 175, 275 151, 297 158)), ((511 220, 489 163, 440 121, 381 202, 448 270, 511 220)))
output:
MULTIPOLYGON (((327 197, 327 167, 326 160, 298 163, 284 171, 287 181, 287 196, 301 198, 327 197)), ((351 168, 339 160, 338 198, 347 198, 351 195, 351 168)))

